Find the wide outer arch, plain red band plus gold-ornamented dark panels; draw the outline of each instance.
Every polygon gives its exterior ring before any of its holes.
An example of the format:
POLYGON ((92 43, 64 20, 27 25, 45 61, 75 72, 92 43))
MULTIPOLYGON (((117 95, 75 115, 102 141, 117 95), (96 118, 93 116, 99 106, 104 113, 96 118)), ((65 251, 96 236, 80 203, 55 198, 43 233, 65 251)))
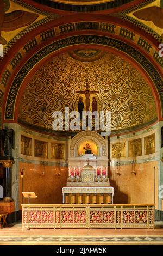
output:
MULTIPOLYGON (((0 66, 0 86, 2 92, 7 87, 8 81, 17 65, 27 56, 30 56, 31 51, 37 46, 44 45, 44 43, 53 38, 57 40, 57 37, 62 35, 66 36, 66 33, 95 33, 103 32, 107 36, 117 36, 120 40, 128 41, 128 44, 137 46, 141 52, 144 52, 149 59, 152 59, 155 65, 162 72, 163 60, 159 56, 159 44, 152 35, 143 31, 143 29, 131 25, 127 21, 121 20, 117 17, 109 17, 105 15, 97 14, 82 14, 82 19, 79 15, 71 15, 62 17, 35 28, 32 32, 25 34, 23 37, 20 34, 19 40, 15 41, 15 38, 11 41, 12 48, 8 51, 7 55, 3 58, 3 62, 0 66), (67 20, 69 23, 67 23, 67 20), (89 28, 86 28, 89 24, 89 28)), ((47 43, 46 43, 47 44, 47 43)), ((6 47, 7 48, 7 47, 6 47)), ((8 47, 9 48, 9 47, 8 47)))

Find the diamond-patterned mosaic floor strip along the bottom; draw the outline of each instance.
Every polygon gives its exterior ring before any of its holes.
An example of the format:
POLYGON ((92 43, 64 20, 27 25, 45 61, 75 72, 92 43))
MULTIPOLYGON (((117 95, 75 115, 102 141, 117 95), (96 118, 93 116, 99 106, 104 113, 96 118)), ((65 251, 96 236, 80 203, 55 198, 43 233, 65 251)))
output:
POLYGON ((1 236, 0 245, 163 245, 163 236, 1 236))

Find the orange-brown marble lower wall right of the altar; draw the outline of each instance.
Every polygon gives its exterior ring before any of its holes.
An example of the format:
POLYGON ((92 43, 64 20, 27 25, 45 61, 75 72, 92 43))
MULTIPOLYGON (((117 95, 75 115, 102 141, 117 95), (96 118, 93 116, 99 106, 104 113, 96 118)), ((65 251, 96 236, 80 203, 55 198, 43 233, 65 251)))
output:
POLYGON ((131 174, 132 168, 132 164, 120 166, 118 169, 110 166, 110 186, 115 188, 114 203, 155 203, 158 209, 158 162, 135 164, 136 175, 131 174))

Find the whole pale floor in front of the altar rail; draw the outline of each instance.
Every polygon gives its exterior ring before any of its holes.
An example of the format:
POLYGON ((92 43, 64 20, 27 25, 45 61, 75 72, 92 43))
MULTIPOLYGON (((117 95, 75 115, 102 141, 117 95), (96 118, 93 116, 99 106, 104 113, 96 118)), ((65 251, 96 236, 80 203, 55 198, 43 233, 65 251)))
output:
POLYGON ((30 229, 21 222, 0 229, 0 245, 163 245, 163 222, 155 229, 30 229))

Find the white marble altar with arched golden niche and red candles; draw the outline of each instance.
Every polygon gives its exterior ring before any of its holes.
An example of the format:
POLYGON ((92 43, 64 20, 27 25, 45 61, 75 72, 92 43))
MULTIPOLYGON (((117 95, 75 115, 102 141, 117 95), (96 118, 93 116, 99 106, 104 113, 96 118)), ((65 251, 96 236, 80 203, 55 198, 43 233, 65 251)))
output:
POLYGON ((112 204, 114 188, 108 176, 108 138, 83 131, 69 138, 68 180, 64 204, 112 204))

